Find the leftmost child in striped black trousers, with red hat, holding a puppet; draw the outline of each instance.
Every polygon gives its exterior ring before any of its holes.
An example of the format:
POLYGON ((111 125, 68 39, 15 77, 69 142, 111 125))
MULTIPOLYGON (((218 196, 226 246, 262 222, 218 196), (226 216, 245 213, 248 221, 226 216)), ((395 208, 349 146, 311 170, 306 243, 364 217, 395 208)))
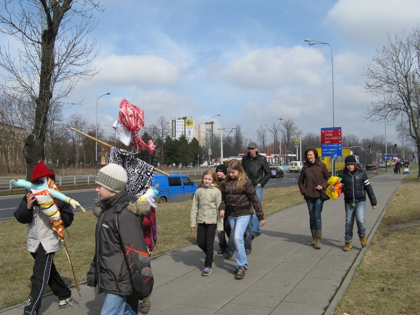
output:
MULTIPOLYGON (((35 165, 32 175, 32 183, 58 190, 54 182, 54 171, 48 169, 41 161, 35 165)), ((70 304, 71 291, 54 264, 54 254, 60 250, 61 241, 60 231, 53 229, 52 218, 57 217, 62 226, 67 228, 73 221, 74 214, 70 204, 56 200, 45 192, 46 190, 30 191, 13 213, 18 222, 28 224, 27 248, 35 260, 31 293, 23 309, 24 315, 39 313, 42 295, 47 285, 59 298, 59 308, 68 307, 70 304), (51 211, 53 208, 55 213, 51 211)))

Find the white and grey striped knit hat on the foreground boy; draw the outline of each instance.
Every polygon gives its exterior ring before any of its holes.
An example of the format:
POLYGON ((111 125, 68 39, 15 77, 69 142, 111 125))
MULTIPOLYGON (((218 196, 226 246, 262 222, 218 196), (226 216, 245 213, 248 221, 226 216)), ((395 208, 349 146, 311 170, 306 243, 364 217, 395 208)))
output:
POLYGON ((122 166, 109 163, 99 170, 95 182, 110 191, 119 193, 127 184, 127 172, 122 166))

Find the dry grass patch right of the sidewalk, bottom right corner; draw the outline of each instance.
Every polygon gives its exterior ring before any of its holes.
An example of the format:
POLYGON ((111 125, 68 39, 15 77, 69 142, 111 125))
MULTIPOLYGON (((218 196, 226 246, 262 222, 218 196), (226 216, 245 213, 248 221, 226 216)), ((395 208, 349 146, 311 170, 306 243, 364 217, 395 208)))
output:
MULTIPOLYGON (((407 182, 419 182, 411 174, 407 182)), ((420 184, 401 185, 334 315, 419 314, 420 184)))

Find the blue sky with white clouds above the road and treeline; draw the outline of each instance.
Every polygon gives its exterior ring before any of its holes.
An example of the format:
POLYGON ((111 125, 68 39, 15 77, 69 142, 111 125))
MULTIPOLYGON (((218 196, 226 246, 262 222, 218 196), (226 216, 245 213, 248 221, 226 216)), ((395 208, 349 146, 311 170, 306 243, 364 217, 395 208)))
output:
MULTIPOLYGON (((92 35, 101 53, 95 78, 80 81, 71 100, 107 131, 123 98, 141 107, 146 126, 163 115, 222 128, 241 125, 257 140, 277 117, 303 133, 332 126, 333 49, 335 126, 360 139, 384 135, 384 123, 364 122, 372 96, 363 93, 363 68, 387 34, 410 33, 419 23, 418 0, 104 0, 92 35)), ((278 121, 277 121, 278 122, 278 121)), ((230 129, 229 129, 230 130, 230 129)), ((141 131, 140 131, 141 132, 141 131)), ((393 126, 386 127, 395 141, 393 126)))

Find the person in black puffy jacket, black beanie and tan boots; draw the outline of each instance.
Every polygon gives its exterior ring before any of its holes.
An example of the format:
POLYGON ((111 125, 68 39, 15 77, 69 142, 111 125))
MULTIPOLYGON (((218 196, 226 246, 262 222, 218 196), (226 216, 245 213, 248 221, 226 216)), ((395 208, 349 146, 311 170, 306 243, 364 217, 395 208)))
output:
POLYGON ((369 197, 372 210, 376 209, 377 202, 369 178, 366 172, 357 166, 354 155, 349 155, 345 159, 341 184, 344 191, 344 209, 346 210, 343 250, 349 251, 352 247, 354 219, 356 219, 360 244, 362 247, 367 245, 365 227, 366 195, 369 197))

